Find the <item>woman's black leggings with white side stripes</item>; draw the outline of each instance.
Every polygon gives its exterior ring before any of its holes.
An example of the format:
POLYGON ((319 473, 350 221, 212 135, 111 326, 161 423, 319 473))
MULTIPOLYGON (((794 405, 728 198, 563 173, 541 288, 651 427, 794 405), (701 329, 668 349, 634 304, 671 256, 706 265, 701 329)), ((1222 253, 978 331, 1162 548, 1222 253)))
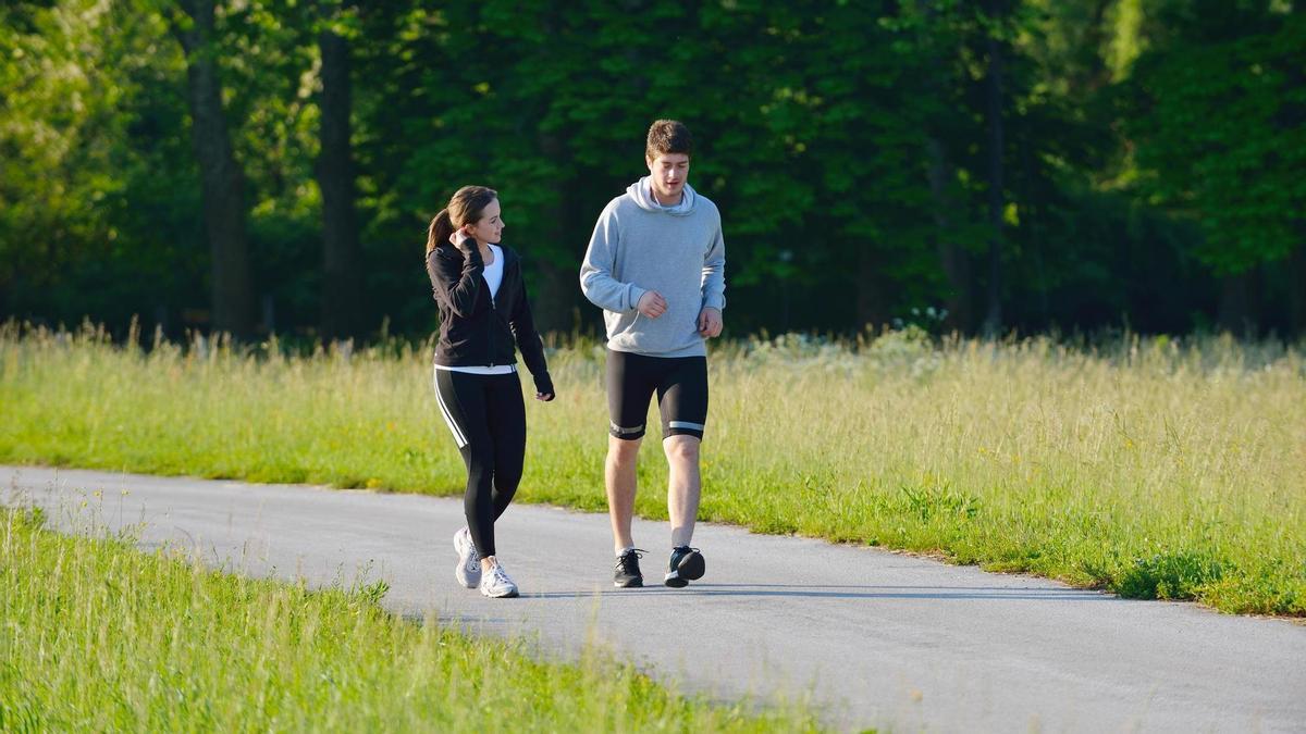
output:
POLYGON ((508 509, 526 455, 526 405, 517 374, 435 371, 435 397, 468 465, 462 498, 471 542, 495 555, 494 522, 508 509))

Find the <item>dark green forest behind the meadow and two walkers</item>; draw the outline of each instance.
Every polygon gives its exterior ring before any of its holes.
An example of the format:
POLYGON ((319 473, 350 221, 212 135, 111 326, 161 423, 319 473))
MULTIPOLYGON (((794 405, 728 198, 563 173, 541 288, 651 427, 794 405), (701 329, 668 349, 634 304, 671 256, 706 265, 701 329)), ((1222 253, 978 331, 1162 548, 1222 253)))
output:
POLYGON ((0 8, 0 319, 424 336, 498 188, 537 321, 695 133, 727 333, 1306 332, 1289 0, 33 0, 0 8))

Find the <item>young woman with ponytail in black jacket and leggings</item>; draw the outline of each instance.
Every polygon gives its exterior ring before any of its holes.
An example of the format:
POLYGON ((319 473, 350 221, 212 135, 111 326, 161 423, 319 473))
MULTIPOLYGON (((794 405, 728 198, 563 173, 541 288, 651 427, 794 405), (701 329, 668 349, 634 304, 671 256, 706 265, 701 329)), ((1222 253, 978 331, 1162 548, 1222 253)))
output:
POLYGON ((521 259, 498 244, 503 227, 499 195, 466 185, 431 221, 426 242, 426 272, 440 308, 435 397, 468 466, 468 525, 453 534, 453 575, 495 598, 517 596, 494 537, 495 520, 517 491, 526 452, 517 349, 535 380, 535 400, 554 400, 521 259))

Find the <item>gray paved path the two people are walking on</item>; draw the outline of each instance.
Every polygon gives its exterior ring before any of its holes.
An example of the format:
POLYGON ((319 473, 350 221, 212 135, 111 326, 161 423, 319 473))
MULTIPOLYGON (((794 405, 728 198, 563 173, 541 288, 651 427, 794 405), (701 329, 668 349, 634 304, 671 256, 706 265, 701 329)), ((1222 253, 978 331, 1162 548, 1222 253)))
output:
MULTIPOLYGON (((810 691, 841 729, 1306 731, 1306 627, 1282 620, 718 525, 695 535, 703 582, 615 590, 606 517, 532 505, 499 522, 524 596, 485 599, 453 582, 460 500, 0 468, 0 502, 16 495, 82 530, 89 499, 108 528, 144 521, 142 545, 248 573, 384 579, 397 613, 538 633, 549 653, 593 635, 713 696, 810 691)), ((667 530, 635 533, 660 549, 652 577, 667 530)))

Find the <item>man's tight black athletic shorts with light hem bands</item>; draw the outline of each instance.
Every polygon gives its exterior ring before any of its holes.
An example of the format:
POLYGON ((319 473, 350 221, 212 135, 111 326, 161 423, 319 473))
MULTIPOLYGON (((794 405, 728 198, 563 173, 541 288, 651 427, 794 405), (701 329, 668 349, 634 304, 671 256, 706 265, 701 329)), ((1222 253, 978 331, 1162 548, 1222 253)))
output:
POLYGON ((644 435, 654 392, 663 439, 703 438, 708 422, 707 357, 645 357, 607 350, 607 414, 614 436, 635 440, 644 435))

